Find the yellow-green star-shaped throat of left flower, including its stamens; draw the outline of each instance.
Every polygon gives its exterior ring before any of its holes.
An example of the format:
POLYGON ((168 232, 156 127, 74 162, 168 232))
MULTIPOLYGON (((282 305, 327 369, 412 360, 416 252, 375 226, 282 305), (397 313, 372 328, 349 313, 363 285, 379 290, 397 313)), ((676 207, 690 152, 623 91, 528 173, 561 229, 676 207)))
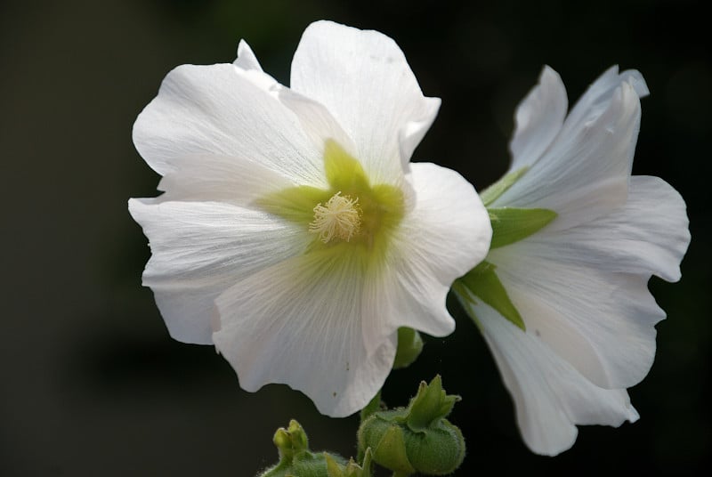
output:
POLYGON ((333 140, 325 144, 324 170, 328 189, 290 187, 259 198, 256 205, 303 224, 314 236, 310 251, 336 248, 368 255, 383 251, 403 218, 402 190, 371 184, 360 162, 333 140))

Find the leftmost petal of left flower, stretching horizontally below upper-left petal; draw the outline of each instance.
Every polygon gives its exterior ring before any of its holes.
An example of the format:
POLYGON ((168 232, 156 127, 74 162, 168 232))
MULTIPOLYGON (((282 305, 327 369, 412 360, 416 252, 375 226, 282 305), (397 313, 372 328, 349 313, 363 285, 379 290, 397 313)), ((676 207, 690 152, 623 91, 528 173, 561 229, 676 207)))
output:
POLYGON ((151 247, 143 285, 153 290, 171 336, 186 343, 212 343, 217 295, 306 243, 307 234, 290 223, 227 204, 134 198, 129 211, 151 247))

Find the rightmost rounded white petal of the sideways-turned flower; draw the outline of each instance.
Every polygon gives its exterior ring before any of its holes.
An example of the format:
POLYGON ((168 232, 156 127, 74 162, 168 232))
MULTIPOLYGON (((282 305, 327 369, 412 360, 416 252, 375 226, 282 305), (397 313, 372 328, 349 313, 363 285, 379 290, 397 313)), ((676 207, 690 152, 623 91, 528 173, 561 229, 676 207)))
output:
POLYGON ((604 271, 680 279, 690 243, 684 200, 658 177, 633 176, 626 205, 594 222, 550 233, 557 260, 604 271))

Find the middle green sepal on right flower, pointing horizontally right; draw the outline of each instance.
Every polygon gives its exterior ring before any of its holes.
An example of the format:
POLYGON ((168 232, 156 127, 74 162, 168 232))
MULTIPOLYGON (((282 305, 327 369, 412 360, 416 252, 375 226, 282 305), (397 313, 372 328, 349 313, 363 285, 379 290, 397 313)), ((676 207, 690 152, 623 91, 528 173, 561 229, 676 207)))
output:
POLYGON ((501 207, 487 210, 492 223, 490 250, 526 239, 558 216, 553 210, 543 208, 501 207))

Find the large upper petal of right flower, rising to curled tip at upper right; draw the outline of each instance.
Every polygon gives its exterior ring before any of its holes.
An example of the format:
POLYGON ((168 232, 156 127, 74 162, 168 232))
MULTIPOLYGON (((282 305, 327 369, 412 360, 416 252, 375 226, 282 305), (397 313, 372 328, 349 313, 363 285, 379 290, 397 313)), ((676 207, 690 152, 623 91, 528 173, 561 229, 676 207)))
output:
POLYGON ((627 198, 627 183, 640 125, 633 86, 620 85, 602 112, 562 132, 529 172, 492 206, 544 207, 559 214, 549 225, 562 230, 590 222, 627 198))

